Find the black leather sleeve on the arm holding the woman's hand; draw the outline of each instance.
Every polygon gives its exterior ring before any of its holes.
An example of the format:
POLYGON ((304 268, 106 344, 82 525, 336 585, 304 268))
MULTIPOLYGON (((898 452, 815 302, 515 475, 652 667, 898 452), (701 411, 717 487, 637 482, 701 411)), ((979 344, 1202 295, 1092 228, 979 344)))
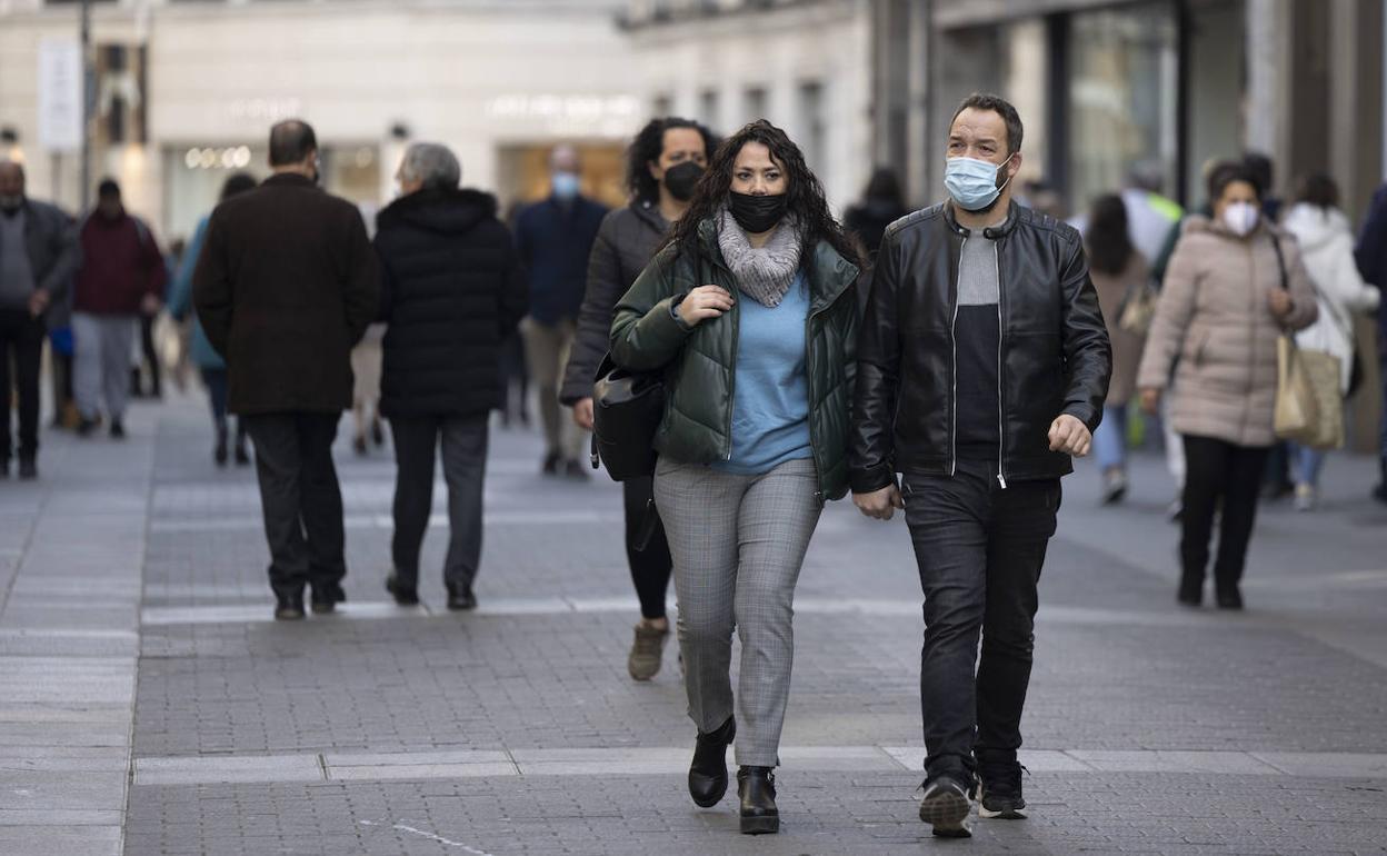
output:
POLYGON ((854 494, 896 483, 895 422, 900 393, 900 329, 896 316, 903 255, 897 233, 882 241, 867 311, 857 332, 857 377, 849 431, 849 479, 854 494))

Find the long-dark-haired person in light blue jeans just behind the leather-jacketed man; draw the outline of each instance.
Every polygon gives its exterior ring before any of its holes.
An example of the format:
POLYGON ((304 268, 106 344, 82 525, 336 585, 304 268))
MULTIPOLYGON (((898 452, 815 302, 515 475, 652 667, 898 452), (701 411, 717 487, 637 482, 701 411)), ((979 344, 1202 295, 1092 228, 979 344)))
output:
POLYGON ((1136 393, 1136 369, 1146 345, 1146 330, 1128 323, 1128 309, 1151 296, 1150 266, 1132 243, 1128 205, 1121 196, 1094 201, 1085 248, 1112 343, 1112 382, 1103 422, 1093 433, 1093 450, 1103 477, 1103 501, 1114 504, 1128 491, 1128 405, 1136 393))

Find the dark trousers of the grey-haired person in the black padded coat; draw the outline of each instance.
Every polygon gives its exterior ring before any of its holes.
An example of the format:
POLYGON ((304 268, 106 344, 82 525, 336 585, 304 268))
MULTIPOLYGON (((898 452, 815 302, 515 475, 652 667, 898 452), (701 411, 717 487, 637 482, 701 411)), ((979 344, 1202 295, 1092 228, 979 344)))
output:
POLYGON ((448 484, 449 588, 472 588, 481 565, 481 498, 487 476, 487 415, 391 418, 395 437, 395 537, 391 555, 405 585, 419 584, 419 549, 433 513, 434 450, 442 445, 448 484))

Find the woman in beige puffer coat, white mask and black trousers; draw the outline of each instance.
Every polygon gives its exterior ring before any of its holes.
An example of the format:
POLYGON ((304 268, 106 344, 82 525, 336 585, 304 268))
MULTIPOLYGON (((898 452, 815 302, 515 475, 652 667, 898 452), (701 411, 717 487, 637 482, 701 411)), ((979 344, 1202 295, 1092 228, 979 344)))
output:
POLYGON ((1189 462, 1176 597, 1203 604, 1216 517, 1216 601, 1241 609, 1247 544, 1276 440, 1276 340, 1309 326, 1318 309, 1301 250, 1262 215, 1255 178, 1232 169, 1209 180, 1214 216, 1184 222, 1137 384, 1142 406, 1154 413, 1173 369, 1171 419, 1189 462))

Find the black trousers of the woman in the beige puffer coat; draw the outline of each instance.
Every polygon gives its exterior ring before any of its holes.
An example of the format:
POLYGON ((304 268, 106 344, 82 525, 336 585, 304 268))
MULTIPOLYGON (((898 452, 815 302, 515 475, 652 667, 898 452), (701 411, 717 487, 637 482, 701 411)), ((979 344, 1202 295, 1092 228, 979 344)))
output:
POLYGON ((1184 437, 1184 513, 1180 516, 1182 587, 1204 585, 1214 516, 1222 508, 1214 581, 1219 591, 1237 588, 1247 563, 1247 542, 1257 523, 1257 498, 1266 470, 1268 447, 1234 445, 1212 437, 1184 437))

